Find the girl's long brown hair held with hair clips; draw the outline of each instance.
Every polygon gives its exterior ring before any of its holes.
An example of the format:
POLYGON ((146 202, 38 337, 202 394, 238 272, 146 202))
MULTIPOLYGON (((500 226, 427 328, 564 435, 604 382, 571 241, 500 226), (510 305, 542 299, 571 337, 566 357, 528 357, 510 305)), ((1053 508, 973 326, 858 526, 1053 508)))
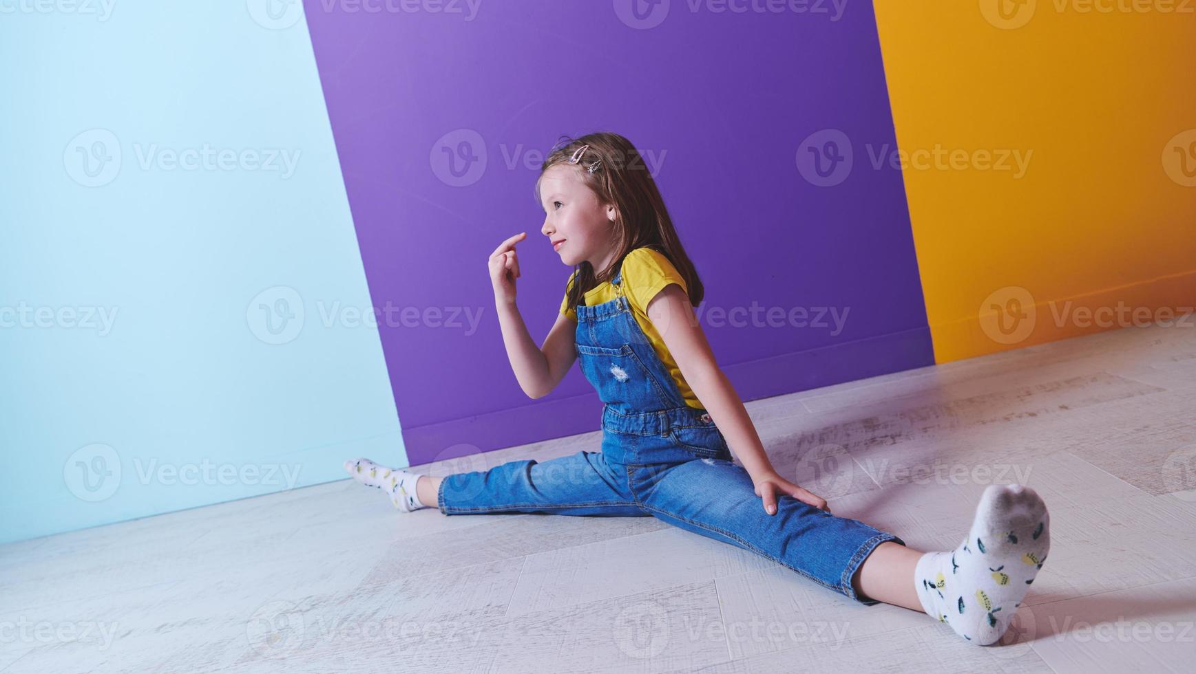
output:
MULTIPOLYGON (((701 304, 706 295, 702 281, 681 245, 655 180, 652 179, 640 151, 631 145, 631 141, 605 131, 576 139, 561 136, 554 146, 555 149, 541 165, 541 177, 553 166, 560 164, 568 166, 569 158, 584 145, 590 147, 573 168, 578 171, 586 186, 598 196, 599 202, 604 206, 615 204, 617 209, 615 238, 618 241, 616 244, 618 255, 611 261, 610 266, 600 271, 596 271, 588 261, 574 266, 574 282, 568 288, 569 306, 578 306, 587 290, 612 278, 615 269, 623 263, 627 253, 641 246, 652 246, 664 253, 685 280, 690 304, 694 306, 701 304), (587 167, 594 161, 600 164, 591 173, 587 167)), ((539 178, 536 178, 536 203, 539 204, 539 178)))

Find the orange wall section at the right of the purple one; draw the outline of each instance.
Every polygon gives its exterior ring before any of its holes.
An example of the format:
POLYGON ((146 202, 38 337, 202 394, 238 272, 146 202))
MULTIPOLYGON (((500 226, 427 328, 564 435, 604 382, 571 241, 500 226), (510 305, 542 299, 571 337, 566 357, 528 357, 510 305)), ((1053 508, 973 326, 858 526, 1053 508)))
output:
POLYGON ((1196 304, 1196 0, 874 5, 939 362, 1196 304))

